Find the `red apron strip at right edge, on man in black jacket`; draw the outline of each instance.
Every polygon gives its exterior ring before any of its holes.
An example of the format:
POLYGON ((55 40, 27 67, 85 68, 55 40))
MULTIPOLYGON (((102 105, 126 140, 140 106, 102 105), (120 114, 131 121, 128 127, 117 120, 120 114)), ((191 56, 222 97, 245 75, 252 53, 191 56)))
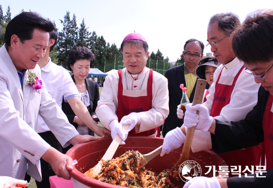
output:
POLYGON ((263 129, 265 136, 264 146, 267 158, 267 169, 273 168, 273 113, 271 112, 272 103, 273 96, 269 94, 263 120, 263 129))

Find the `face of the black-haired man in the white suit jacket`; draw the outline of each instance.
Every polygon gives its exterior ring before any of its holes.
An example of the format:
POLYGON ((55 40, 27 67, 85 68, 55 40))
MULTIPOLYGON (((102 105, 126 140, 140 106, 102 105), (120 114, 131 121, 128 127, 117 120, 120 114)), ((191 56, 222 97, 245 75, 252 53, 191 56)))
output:
POLYGON ((14 55, 12 61, 17 70, 22 71, 23 69, 33 69, 36 64, 42 59, 46 53, 49 33, 41 29, 34 29, 33 37, 30 40, 25 40, 23 43, 11 37, 11 47, 14 49, 14 55))

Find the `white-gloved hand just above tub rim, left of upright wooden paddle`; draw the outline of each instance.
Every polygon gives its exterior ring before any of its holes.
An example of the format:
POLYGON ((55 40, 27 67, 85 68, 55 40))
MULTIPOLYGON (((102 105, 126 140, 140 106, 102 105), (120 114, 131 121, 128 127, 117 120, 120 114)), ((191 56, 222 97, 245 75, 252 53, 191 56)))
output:
POLYGON ((185 134, 178 127, 169 131, 164 138, 160 156, 162 157, 165 153, 168 154, 172 150, 179 148, 184 143, 185 138, 185 134))

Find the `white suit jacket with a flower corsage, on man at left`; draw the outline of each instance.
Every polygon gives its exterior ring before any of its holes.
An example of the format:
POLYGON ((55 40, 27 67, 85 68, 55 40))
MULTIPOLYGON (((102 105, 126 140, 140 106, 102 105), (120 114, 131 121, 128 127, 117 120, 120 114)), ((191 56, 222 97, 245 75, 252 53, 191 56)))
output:
MULTIPOLYGON (((39 159, 50 145, 36 132, 38 114, 63 146, 78 132, 45 87, 35 90, 24 83, 27 71, 21 87, 17 70, 4 46, 0 48, 0 176, 15 177, 23 154, 28 162, 28 174, 41 181, 39 159)), ((41 79, 39 66, 30 71, 41 79)))

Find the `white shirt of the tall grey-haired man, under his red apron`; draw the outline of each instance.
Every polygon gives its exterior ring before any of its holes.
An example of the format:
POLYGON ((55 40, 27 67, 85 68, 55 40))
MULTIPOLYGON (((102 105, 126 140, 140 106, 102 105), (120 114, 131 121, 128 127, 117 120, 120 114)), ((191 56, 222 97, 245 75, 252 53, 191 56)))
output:
MULTIPOLYGON (((206 96, 207 100, 204 103, 204 105, 208 108, 209 113, 211 111, 211 106, 215 93, 215 82, 217 81, 220 72, 222 72, 222 74, 219 79, 219 83, 231 85, 233 82, 233 78, 236 76, 236 74, 243 65, 244 65, 243 62, 235 58, 230 63, 224 65, 221 64, 220 66, 217 67, 213 74, 214 82, 210 87, 209 94, 206 96)), ((222 108, 219 116, 213 118, 220 121, 233 122, 245 119, 247 113, 249 113, 257 104, 258 90, 260 88, 260 85, 261 84, 257 84, 254 81, 254 76, 246 73, 245 70, 242 70, 231 93, 229 104, 222 108)), ((187 131, 187 127, 185 128, 187 131)), ((210 132, 196 130, 192 142, 192 151, 198 152, 211 148, 212 145, 210 132)))

